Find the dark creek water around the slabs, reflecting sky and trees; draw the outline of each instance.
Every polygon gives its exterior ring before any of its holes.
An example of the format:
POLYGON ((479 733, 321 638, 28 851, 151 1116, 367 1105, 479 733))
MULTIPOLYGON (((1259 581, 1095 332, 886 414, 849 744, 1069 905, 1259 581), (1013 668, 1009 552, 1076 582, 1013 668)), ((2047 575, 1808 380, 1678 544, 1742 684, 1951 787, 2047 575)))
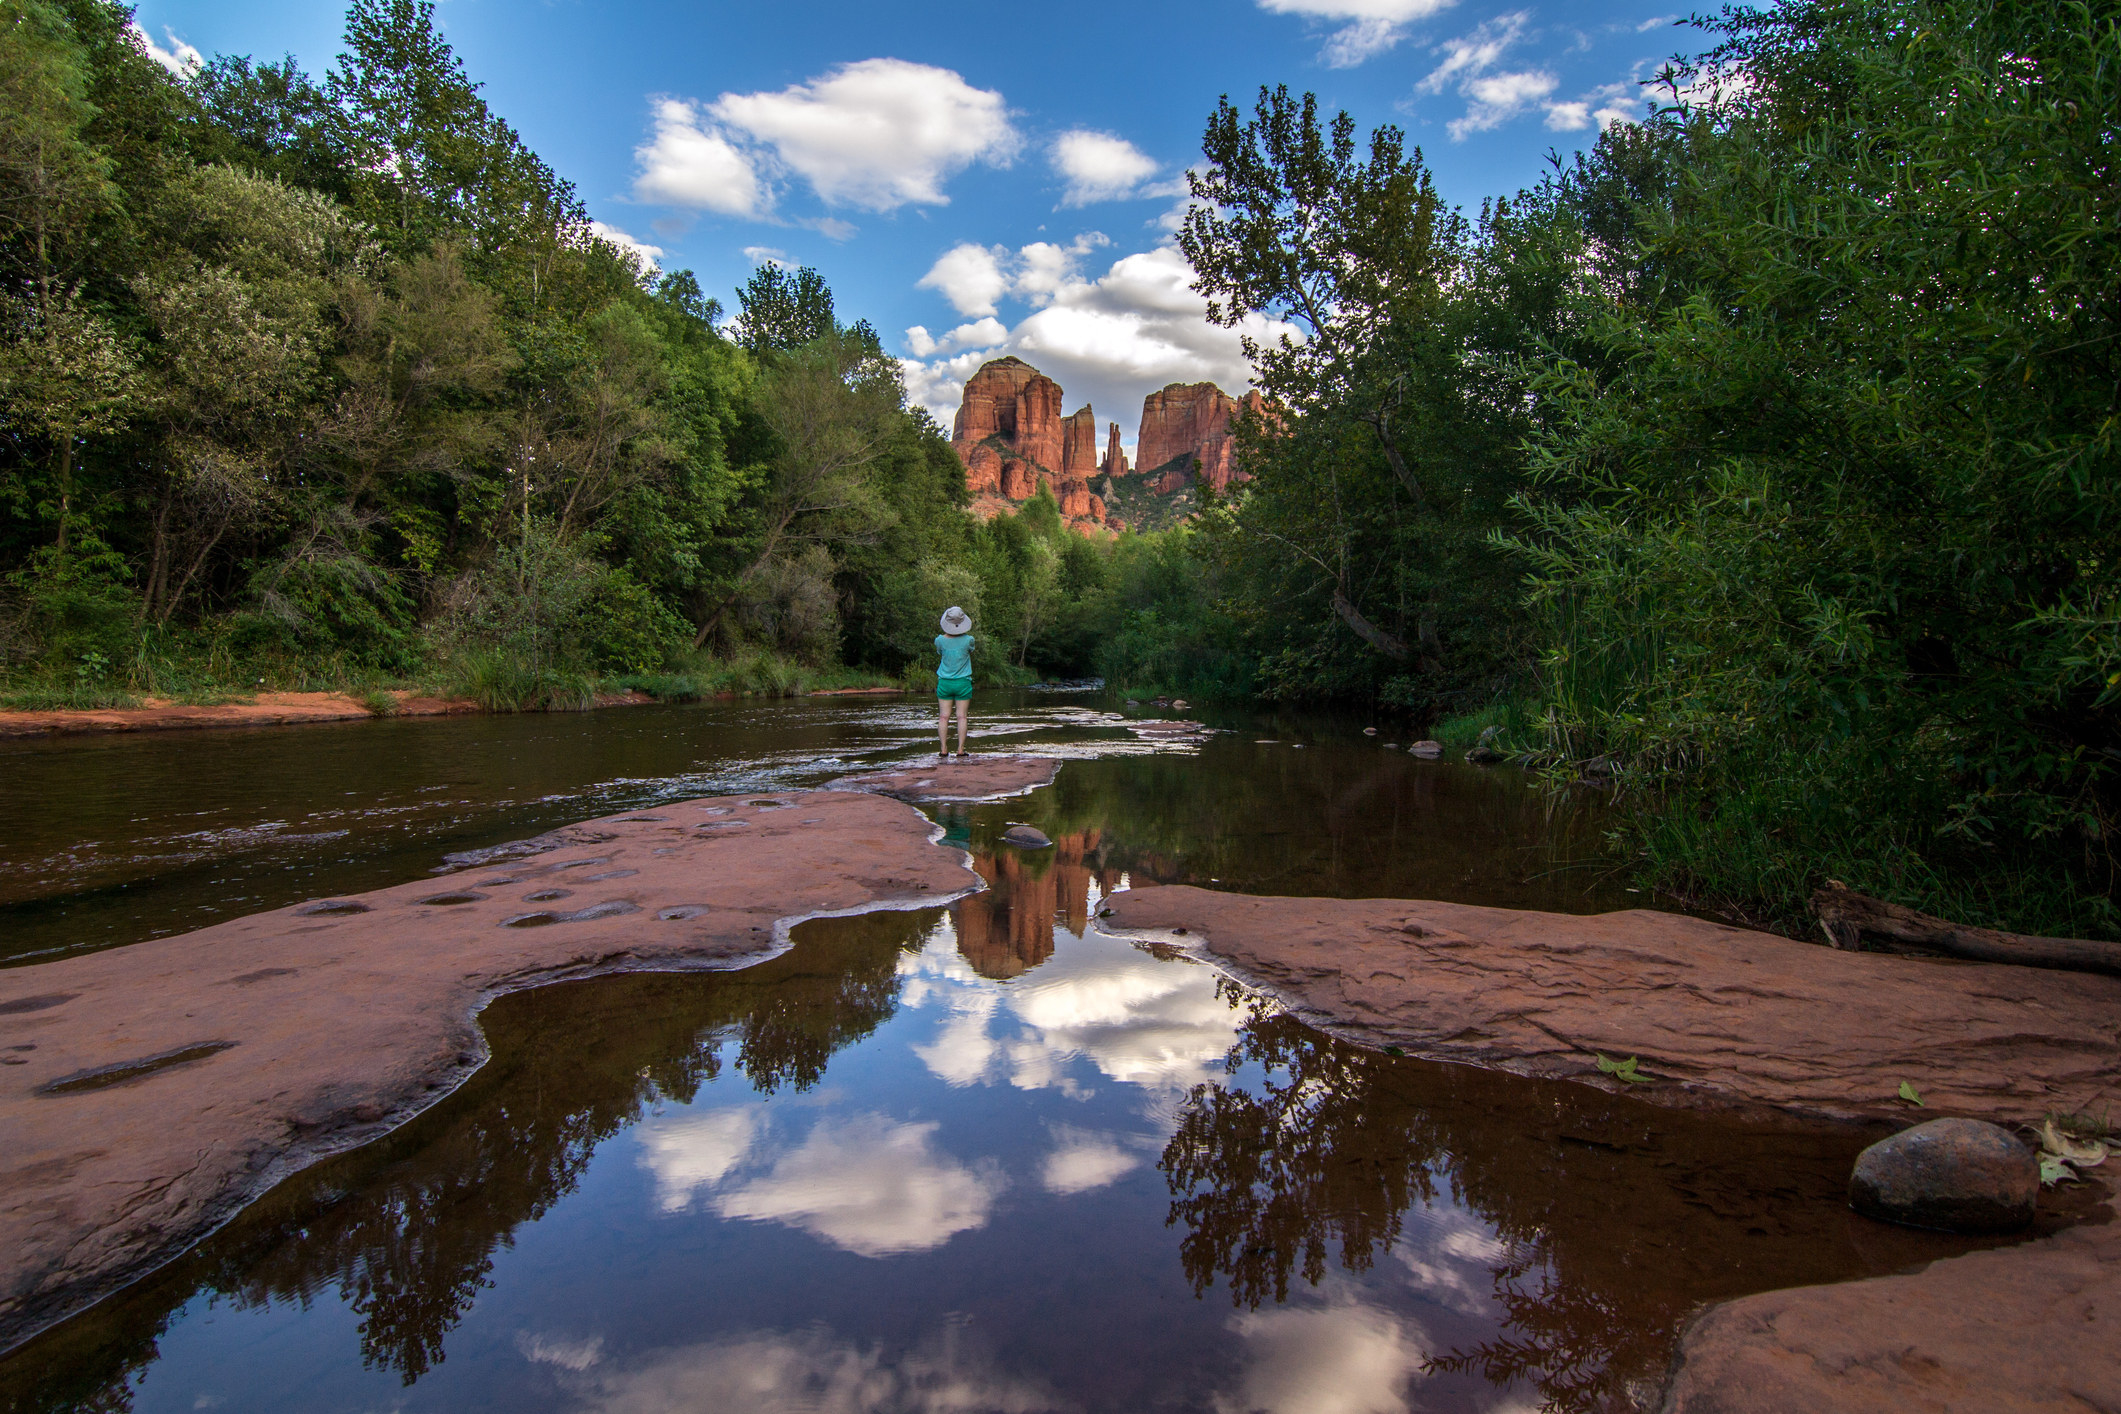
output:
MULTIPOLYGON (((4 929, 15 956, 123 943, 821 780, 925 723, 812 702, 40 748, 6 759, 55 795, 6 839, 4 929)), ((810 922, 740 973, 503 998, 464 1090, 0 1361, 0 1408, 1627 1410, 1705 1300, 1964 1251, 1847 1213, 1860 1136, 1360 1051, 1092 926, 1143 880, 1631 903, 1570 867, 1591 814, 1353 723, 1232 721, 1196 755, 1067 700, 988 723, 1073 761, 940 812, 986 892, 810 922), (995 846, 1012 820, 1056 848, 995 846)))

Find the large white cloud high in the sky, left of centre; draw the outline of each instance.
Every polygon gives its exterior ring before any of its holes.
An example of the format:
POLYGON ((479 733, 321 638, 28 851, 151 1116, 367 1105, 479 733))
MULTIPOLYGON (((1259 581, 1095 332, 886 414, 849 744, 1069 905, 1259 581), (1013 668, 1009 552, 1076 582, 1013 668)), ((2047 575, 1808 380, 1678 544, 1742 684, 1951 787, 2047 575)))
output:
POLYGON ((1007 165, 1020 146, 1001 93, 906 59, 842 64, 778 93, 723 93, 708 112, 772 148, 827 206, 872 212, 946 206, 948 176, 1007 165))

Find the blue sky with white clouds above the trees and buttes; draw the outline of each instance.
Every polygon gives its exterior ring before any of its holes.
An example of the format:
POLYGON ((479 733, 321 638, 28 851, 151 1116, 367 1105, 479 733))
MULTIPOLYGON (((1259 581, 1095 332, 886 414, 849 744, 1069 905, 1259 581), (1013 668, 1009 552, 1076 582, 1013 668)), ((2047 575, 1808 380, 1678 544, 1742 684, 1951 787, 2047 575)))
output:
MULTIPOLYGON (((1538 178, 1697 47, 1669 0, 1094 0, 666 4, 443 0, 486 98, 611 231, 734 310, 761 259, 814 265, 948 424, 1018 354, 1133 443, 1169 382, 1247 386, 1171 244, 1222 93, 1287 83, 1398 123, 1476 210, 1538 178)), ((322 74, 341 6, 148 0, 155 47, 322 74)))

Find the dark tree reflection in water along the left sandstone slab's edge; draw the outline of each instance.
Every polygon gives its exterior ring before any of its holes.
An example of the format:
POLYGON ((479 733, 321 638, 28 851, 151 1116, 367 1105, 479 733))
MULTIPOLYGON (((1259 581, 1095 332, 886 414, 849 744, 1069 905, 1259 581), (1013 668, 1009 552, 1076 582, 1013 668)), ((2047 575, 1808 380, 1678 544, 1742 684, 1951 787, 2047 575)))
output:
POLYGON ((492 1060, 403 1130, 310 1168, 197 1253, 0 1363, 0 1410, 132 1408, 127 1382, 195 1293, 238 1308, 337 1287, 369 1365, 411 1384, 490 1283, 492 1253, 581 1181, 596 1147, 662 1098, 689 1102, 723 1054, 766 1094, 814 1085, 897 1009, 897 958, 935 914, 814 920, 736 973, 636 973, 503 996, 492 1060))

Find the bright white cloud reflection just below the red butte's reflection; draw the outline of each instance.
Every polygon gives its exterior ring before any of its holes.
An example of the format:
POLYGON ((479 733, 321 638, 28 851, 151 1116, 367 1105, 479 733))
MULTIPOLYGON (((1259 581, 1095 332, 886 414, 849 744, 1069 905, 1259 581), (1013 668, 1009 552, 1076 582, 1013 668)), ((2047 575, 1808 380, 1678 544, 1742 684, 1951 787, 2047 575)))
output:
POLYGON ((999 1058, 1020 1090, 1073 1092, 1067 1062, 1084 1056, 1109 1079, 1158 1096, 1181 1094, 1220 1073, 1243 1020, 1215 994, 1209 969, 1162 962, 1094 933, 997 988, 965 965, 954 935, 940 924, 918 956, 899 960, 899 971, 906 1007, 950 1009, 935 1039, 914 1054, 952 1085, 993 1079, 999 1058), (1003 1007, 1016 1035, 995 1035, 1003 1007))

